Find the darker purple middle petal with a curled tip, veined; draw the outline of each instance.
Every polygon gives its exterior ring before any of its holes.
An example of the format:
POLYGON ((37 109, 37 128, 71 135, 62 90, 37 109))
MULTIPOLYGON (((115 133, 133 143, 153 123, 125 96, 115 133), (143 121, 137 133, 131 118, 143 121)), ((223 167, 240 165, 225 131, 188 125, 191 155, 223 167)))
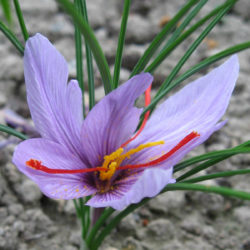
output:
POLYGON ((131 78, 104 97, 90 111, 82 126, 82 147, 92 166, 121 146, 135 131, 141 110, 136 98, 152 83, 149 73, 131 78))

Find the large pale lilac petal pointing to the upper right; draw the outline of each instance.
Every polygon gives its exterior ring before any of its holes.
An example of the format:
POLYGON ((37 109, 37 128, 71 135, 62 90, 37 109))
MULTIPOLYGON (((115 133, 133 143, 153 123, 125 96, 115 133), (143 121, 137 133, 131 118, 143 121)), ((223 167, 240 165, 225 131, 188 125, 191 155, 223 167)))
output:
POLYGON ((144 131, 129 148, 139 144, 164 140, 163 146, 144 150, 131 157, 126 164, 147 162, 149 157, 160 157, 171 150, 185 136, 197 131, 200 137, 188 143, 161 165, 172 167, 191 149, 204 142, 224 123, 217 122, 224 115, 238 77, 237 56, 232 56, 206 76, 188 84, 170 97, 152 114, 144 131))

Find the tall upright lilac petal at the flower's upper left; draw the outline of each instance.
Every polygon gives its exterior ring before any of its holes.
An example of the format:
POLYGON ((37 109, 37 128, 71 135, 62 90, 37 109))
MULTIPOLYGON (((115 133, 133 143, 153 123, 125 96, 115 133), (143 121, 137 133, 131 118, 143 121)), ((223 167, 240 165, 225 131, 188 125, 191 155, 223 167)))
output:
POLYGON ((80 152, 82 94, 76 81, 67 86, 63 56, 40 34, 30 38, 24 52, 27 99, 36 129, 43 138, 80 152))

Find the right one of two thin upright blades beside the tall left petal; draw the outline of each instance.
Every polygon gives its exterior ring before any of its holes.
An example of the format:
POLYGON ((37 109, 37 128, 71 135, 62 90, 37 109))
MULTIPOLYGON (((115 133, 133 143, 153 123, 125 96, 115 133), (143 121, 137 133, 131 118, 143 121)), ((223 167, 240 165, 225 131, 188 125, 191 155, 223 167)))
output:
MULTIPOLYGON (((80 0, 81 12, 85 22, 88 24, 88 12, 85 0, 80 0)), ((87 73, 88 73, 88 89, 89 89, 89 110, 95 105, 95 79, 92 53, 88 43, 85 42, 86 61, 87 61, 87 73)))

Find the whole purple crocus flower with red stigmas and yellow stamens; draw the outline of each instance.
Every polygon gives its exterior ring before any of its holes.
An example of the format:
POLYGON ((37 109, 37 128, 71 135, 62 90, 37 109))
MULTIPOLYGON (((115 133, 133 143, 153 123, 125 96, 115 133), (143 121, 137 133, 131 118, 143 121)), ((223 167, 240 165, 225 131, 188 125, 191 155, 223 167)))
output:
POLYGON ((26 43, 24 74, 32 119, 41 138, 20 143, 13 162, 48 197, 91 196, 87 205, 121 210, 157 195, 175 182, 173 166, 225 122, 238 75, 231 57, 190 83, 148 114, 135 133, 142 109, 134 107, 153 78, 139 74, 104 97, 82 117, 82 93, 67 84, 64 58, 42 35, 26 43), (135 134, 134 134, 135 133, 135 134))

